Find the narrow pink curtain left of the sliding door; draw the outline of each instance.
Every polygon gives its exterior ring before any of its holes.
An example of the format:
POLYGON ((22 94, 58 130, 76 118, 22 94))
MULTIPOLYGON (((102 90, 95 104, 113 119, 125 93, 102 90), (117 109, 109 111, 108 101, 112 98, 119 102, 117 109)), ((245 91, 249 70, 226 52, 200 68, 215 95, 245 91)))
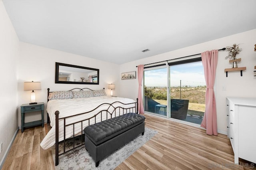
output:
POLYGON ((138 111, 140 114, 144 114, 144 107, 142 101, 142 78, 144 72, 144 65, 138 65, 138 81, 139 81, 139 89, 138 89, 138 111))

